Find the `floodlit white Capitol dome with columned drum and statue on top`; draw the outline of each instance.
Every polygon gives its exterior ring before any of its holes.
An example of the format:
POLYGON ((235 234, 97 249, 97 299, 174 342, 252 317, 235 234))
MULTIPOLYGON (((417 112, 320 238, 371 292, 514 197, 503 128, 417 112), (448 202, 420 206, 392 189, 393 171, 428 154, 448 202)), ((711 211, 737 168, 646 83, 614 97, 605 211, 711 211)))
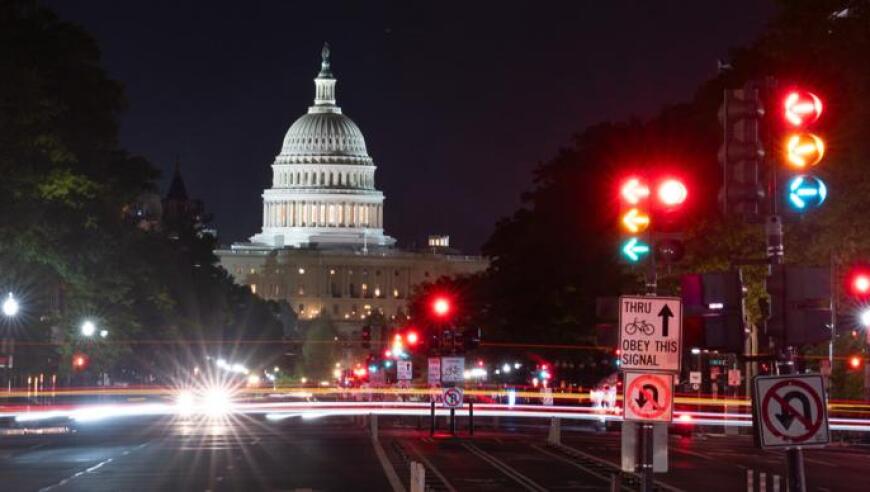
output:
POLYGON ((254 244, 284 247, 390 247, 384 194, 356 123, 335 101, 329 47, 314 79, 314 105, 287 130, 263 191, 263 229, 254 244))

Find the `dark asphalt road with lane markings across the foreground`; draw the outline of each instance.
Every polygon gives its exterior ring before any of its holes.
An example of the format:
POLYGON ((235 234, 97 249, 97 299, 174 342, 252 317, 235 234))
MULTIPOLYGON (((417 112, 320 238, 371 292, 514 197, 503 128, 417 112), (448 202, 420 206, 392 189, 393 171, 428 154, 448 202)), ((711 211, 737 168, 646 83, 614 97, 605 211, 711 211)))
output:
MULTIPOLYGON (((353 417, 140 418, 58 436, 0 436, 0 490, 389 491, 408 487, 410 461, 424 464, 432 490, 605 491, 618 474, 618 432, 566 426, 559 447, 546 444, 542 422, 502 420, 498 428, 479 426, 473 438, 464 426, 450 436, 443 424, 429 436, 411 417, 379 423, 376 441, 353 417)), ((806 464, 811 491, 866 490, 867 449, 809 450, 806 464)), ((772 476, 784 473, 782 453, 757 450, 746 436, 672 436, 670 471, 657 479, 662 490, 737 491, 746 490, 748 469, 756 481, 766 473, 773 490, 772 476)))

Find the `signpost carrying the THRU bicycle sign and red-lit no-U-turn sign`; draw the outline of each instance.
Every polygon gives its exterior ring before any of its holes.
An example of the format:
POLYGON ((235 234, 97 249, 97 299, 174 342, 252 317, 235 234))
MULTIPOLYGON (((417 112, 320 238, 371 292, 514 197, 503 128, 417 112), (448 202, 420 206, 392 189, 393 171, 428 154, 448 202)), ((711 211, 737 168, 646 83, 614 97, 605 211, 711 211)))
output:
MULTIPOLYGON (((653 489, 654 423, 673 419, 673 374, 680 372, 683 348, 682 303, 679 298, 655 296, 654 266, 651 271, 649 295, 619 298, 619 364, 625 376, 623 419, 640 422, 641 447, 636 461, 645 492, 653 489)), ((623 439, 623 445, 625 442, 623 439)))

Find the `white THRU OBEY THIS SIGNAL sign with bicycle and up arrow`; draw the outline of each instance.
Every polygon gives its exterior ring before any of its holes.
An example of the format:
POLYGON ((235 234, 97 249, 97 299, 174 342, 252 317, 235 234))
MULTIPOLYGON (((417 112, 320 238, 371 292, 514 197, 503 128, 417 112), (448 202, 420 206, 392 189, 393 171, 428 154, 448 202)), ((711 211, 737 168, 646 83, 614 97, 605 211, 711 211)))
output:
POLYGON ((619 298, 622 370, 680 372, 683 308, 675 297, 619 298))

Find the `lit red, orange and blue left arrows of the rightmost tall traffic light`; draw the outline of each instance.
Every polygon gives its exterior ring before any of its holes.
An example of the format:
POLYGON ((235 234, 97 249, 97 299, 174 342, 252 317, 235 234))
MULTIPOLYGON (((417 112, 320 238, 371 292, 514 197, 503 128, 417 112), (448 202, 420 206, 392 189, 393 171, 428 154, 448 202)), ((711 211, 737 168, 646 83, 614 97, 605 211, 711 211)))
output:
POLYGON ((822 101, 804 90, 790 90, 782 99, 782 160, 785 173, 785 199, 789 208, 798 213, 822 206, 828 196, 825 182, 807 171, 825 157, 825 141, 814 129, 822 115, 822 101), (792 174, 797 173, 797 174, 792 174))

